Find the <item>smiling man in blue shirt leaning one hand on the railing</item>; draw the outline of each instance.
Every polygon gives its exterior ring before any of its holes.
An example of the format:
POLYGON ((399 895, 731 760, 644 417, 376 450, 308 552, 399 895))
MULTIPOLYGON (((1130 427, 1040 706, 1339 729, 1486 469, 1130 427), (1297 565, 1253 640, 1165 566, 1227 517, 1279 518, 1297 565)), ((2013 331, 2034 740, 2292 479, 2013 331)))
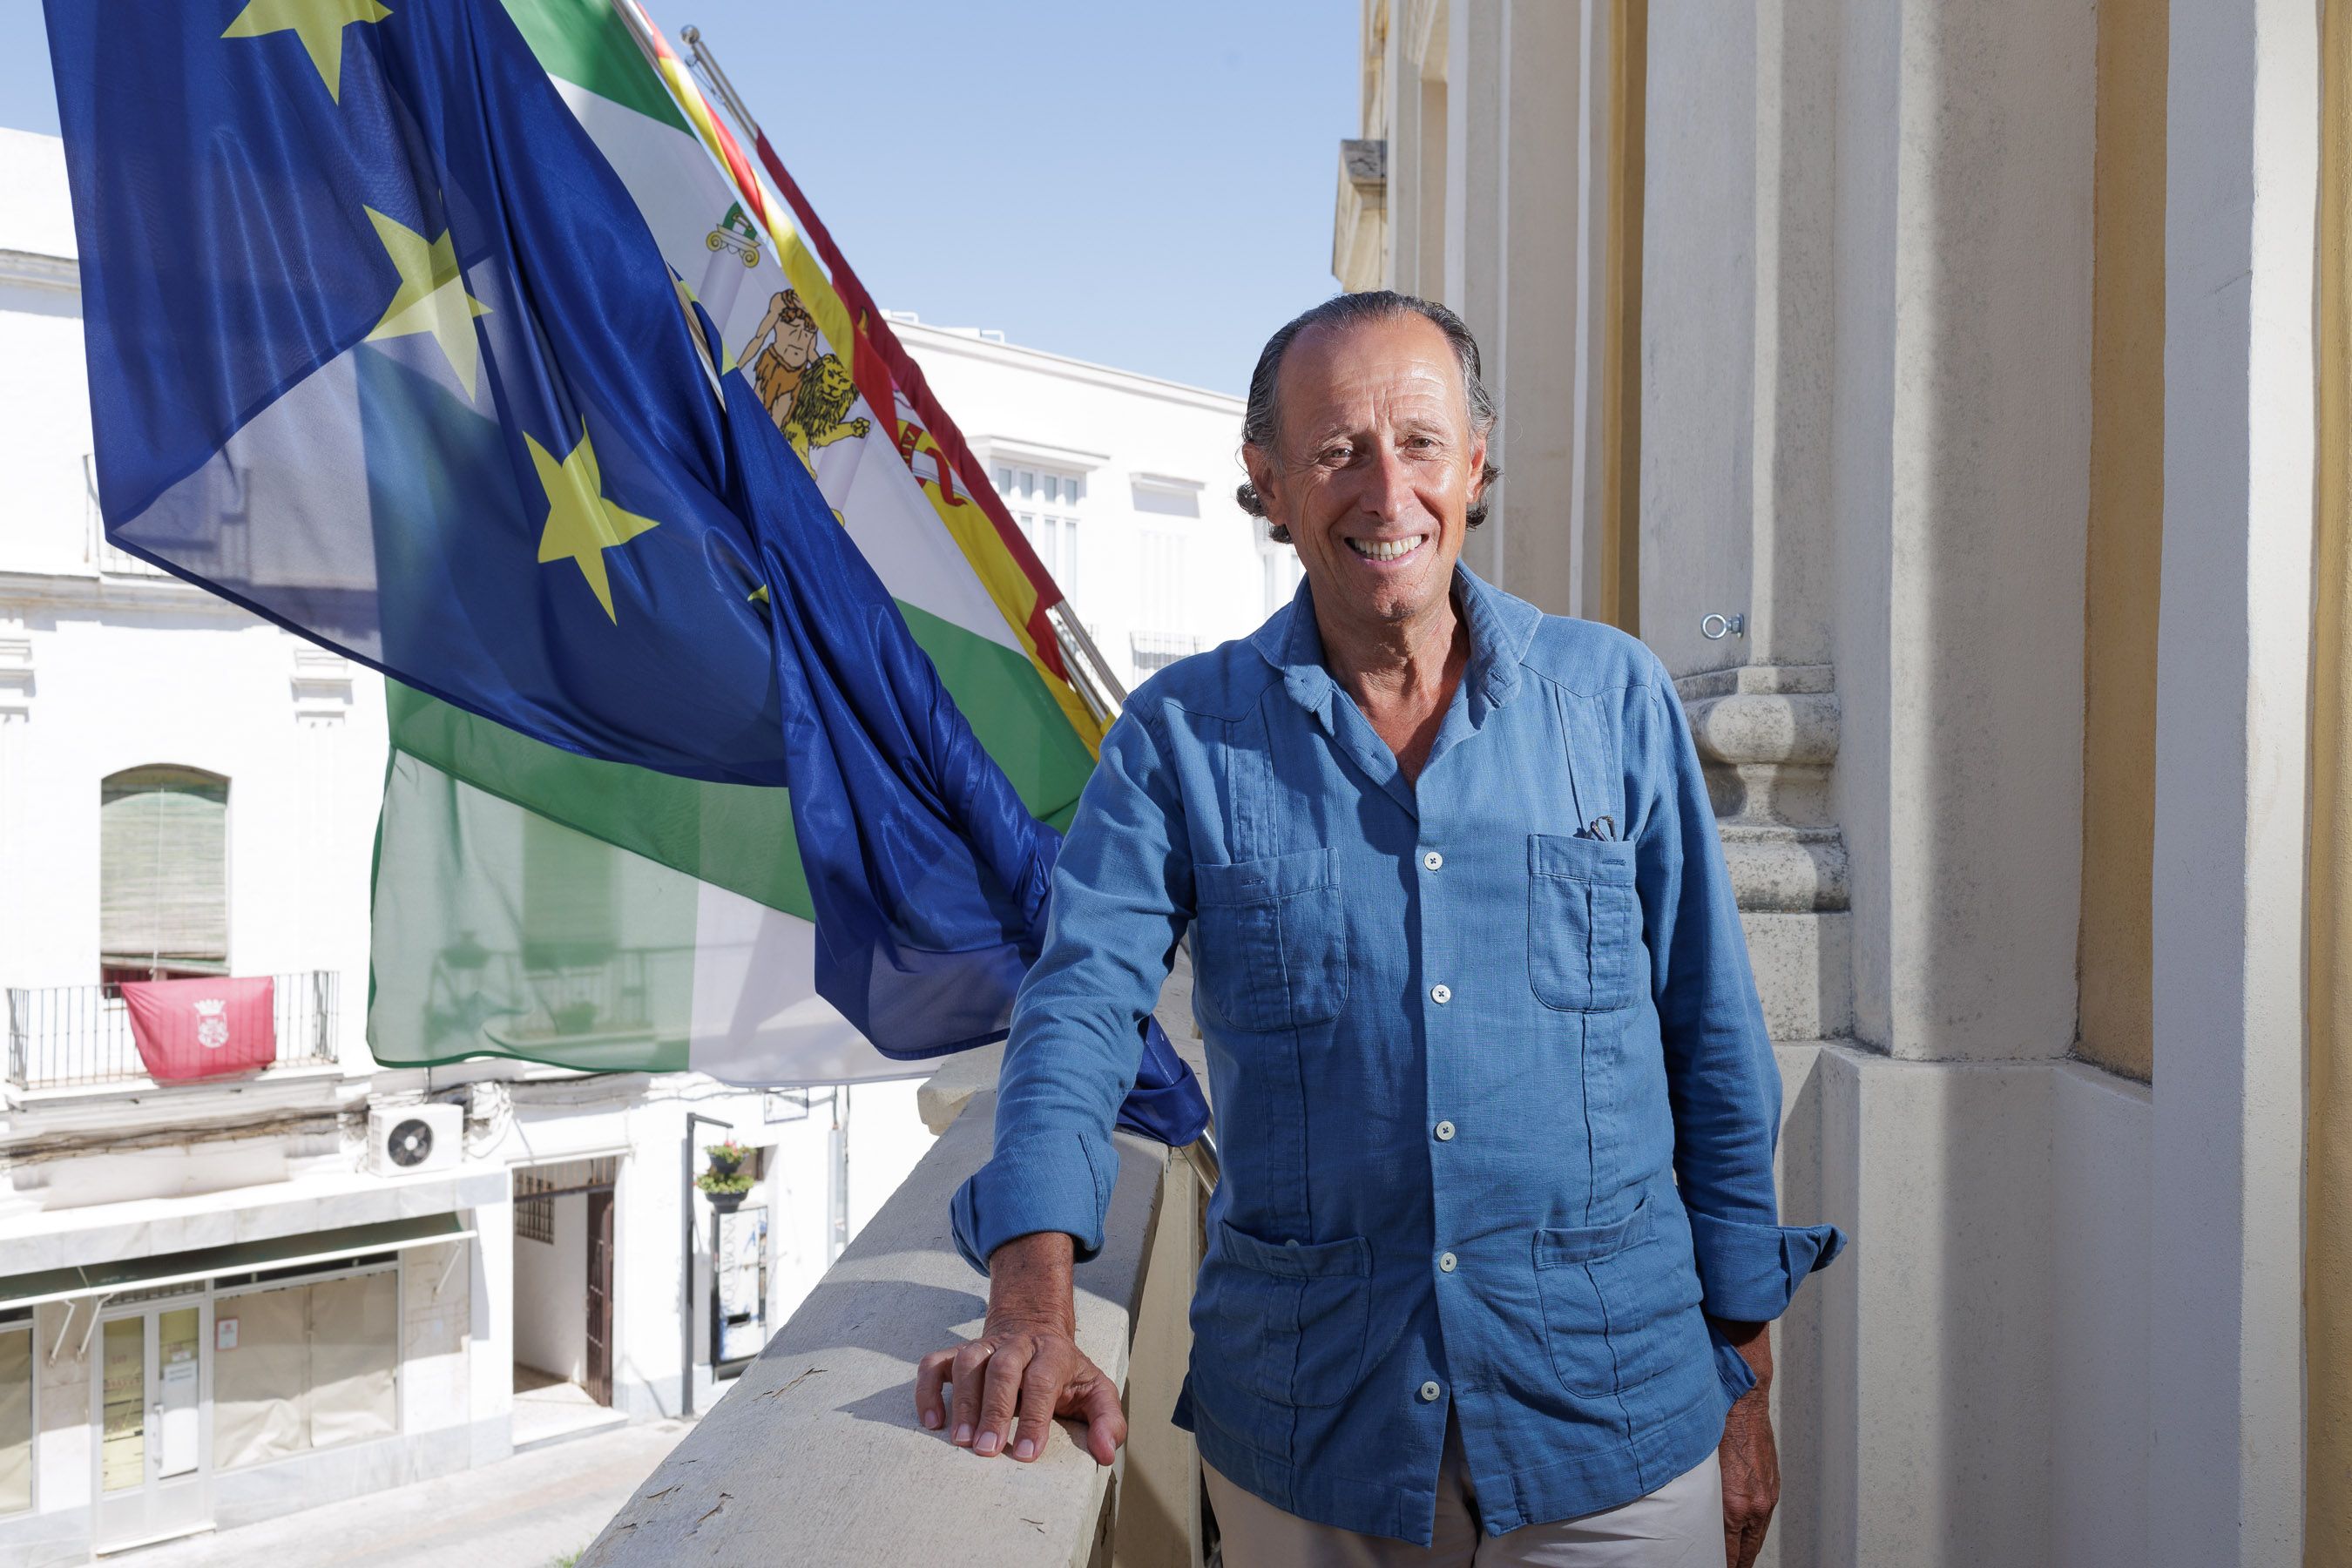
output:
POLYGON ((1780 1077, 1670 677, 1458 559, 1494 423, 1444 306, 1343 294, 1265 346, 1242 505, 1305 578, 1105 738, 955 1197, 988 1324, 922 1361, 924 1425, 1028 1460, 1080 1418, 1108 1465, 1070 1265, 1190 931, 1223 1182, 1178 1420, 1230 1568, 1755 1561, 1764 1326, 1842 1244, 1778 1222, 1780 1077))

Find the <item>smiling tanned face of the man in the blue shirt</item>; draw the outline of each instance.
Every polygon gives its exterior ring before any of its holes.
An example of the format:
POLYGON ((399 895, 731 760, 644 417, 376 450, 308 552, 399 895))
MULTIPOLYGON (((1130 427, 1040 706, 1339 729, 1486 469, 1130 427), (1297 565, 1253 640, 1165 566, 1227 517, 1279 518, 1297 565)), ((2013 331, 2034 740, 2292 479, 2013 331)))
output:
POLYGON ((1367 632, 1414 621, 1454 583, 1486 440, 1435 322, 1310 327, 1277 381, 1272 451, 1242 461, 1291 531, 1319 621, 1367 632))

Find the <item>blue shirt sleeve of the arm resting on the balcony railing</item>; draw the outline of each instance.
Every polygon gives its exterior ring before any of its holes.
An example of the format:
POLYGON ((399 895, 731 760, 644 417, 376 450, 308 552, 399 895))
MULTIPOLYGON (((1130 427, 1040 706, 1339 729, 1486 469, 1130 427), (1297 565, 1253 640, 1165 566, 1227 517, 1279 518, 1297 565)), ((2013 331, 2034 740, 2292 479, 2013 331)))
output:
POLYGON ((948 1204, 955 1246, 983 1274, 1016 1237, 1068 1232, 1080 1260, 1103 1246, 1120 1175, 1110 1128, 1192 914, 1181 795, 1148 712, 1143 689, 1080 795, 1044 950, 1014 999, 995 1147, 948 1204))

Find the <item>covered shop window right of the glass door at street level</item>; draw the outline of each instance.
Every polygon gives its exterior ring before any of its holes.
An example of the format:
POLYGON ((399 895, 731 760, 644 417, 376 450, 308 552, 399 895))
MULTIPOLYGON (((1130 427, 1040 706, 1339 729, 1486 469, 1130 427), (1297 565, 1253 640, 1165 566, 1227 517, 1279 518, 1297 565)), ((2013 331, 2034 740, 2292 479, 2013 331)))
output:
POLYGON ((219 1295, 212 1307, 219 1469, 400 1429, 400 1274, 372 1269, 219 1295), (235 1321, 223 1331, 221 1324, 235 1321))

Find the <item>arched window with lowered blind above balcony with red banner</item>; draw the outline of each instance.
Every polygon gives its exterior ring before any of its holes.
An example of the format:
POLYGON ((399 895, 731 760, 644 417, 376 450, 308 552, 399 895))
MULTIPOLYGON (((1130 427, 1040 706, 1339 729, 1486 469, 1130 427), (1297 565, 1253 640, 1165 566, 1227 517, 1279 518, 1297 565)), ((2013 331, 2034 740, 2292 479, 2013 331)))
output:
POLYGON ((99 785, 99 961, 228 973, 228 780, 132 769, 99 785))

